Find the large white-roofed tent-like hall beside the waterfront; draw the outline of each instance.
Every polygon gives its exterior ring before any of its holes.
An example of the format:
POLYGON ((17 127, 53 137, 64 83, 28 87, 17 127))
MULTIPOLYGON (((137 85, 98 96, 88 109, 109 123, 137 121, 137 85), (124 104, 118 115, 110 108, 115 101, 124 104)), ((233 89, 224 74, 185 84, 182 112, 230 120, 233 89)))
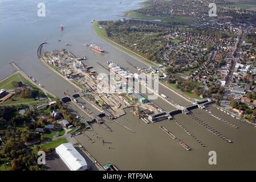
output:
POLYGON ((71 143, 63 143, 55 150, 70 171, 84 171, 88 168, 86 160, 71 143))

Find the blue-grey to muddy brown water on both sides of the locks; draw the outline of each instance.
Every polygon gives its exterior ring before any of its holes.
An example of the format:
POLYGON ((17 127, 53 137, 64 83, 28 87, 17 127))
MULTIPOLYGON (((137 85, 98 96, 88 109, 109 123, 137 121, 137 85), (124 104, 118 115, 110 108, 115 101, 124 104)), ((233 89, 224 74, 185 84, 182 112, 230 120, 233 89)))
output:
MULTIPOLYGON (((8 64, 10 59, 13 59, 23 71, 35 77, 56 96, 63 97, 64 92, 74 93, 73 86, 56 76, 38 60, 36 49, 44 39, 50 42, 44 46, 44 49, 67 48, 75 55, 86 55, 88 58, 86 63, 93 65, 99 73, 105 72, 105 70, 96 63, 97 61, 106 64, 107 60, 113 60, 133 72, 136 71, 135 68, 127 64, 127 61, 138 67, 145 67, 143 63, 133 57, 109 46, 94 35, 91 29, 92 19, 120 19, 123 11, 139 8, 140 5, 137 3, 141 1, 45 0, 43 2, 46 5, 46 17, 43 18, 37 16, 39 2, 42 1, 0 0, 1 79, 14 71, 14 68, 8 64), (64 26, 63 32, 59 30, 60 24, 64 26), (61 41, 58 42, 58 40, 61 41), (65 43, 72 44, 72 46, 65 46, 65 43), (91 52, 90 48, 83 46, 84 43, 95 43, 105 49, 105 55, 101 56, 91 52)), ((181 105, 190 105, 190 102, 162 86, 160 86, 160 92, 181 105)), ((173 109, 161 98, 155 102, 164 110, 173 109)), ((72 105, 71 107, 75 108, 72 105)), ((92 107, 90 108, 94 110, 92 107)), ((240 125, 237 119, 222 113, 215 107, 210 106, 210 110, 221 118, 240 125)), ((112 132, 104 130, 97 124, 93 125, 97 133, 105 139, 104 144, 90 131, 88 131, 88 135, 95 140, 95 143, 90 143, 83 135, 76 137, 101 164, 110 162, 116 164, 120 169, 136 170, 256 169, 256 129, 247 123, 242 123, 239 129, 234 129, 205 111, 200 109, 192 111, 198 118, 234 141, 234 143, 227 143, 198 123, 193 122, 186 115, 176 115, 175 118, 178 122, 205 143, 206 147, 203 148, 174 121, 146 124, 132 115, 129 109, 126 111, 127 115, 116 121, 135 133, 105 118, 107 125, 113 130, 112 132), (172 131, 178 139, 173 140, 166 135, 160 130, 160 125, 172 131), (192 147, 192 151, 186 151, 180 146, 179 139, 192 147), (209 151, 217 152, 217 165, 209 165, 209 151)))

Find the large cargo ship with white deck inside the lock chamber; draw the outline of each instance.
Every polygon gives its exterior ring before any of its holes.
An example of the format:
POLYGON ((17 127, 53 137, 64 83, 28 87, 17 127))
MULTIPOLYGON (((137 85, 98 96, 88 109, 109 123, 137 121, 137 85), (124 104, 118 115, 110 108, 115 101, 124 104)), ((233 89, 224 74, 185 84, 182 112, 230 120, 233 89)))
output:
POLYGON ((108 63, 108 68, 110 69, 111 74, 118 76, 125 82, 128 82, 129 80, 133 79, 133 73, 129 71, 125 71, 119 65, 117 65, 116 63, 113 63, 113 61, 108 61, 107 63, 108 63))

